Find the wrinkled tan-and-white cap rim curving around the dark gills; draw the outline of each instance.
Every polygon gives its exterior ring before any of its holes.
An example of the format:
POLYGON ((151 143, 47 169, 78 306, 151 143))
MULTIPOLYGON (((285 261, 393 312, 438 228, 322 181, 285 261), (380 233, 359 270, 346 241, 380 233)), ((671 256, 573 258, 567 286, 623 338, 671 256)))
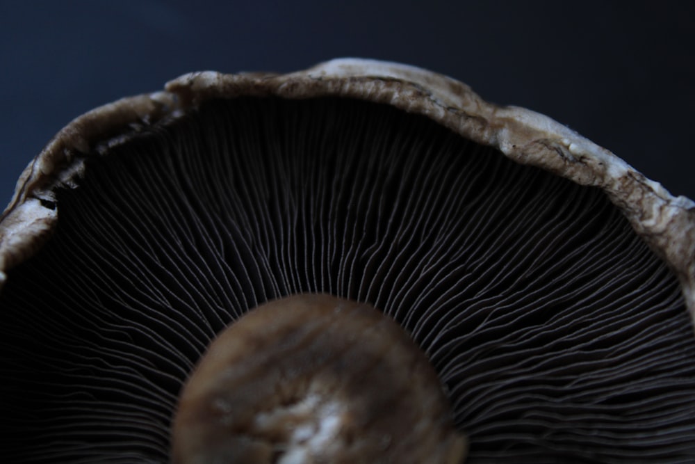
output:
POLYGON ((538 166, 582 185, 598 186, 669 264, 695 321, 695 203, 673 197, 608 150, 545 115, 484 102, 463 83, 418 67, 342 58, 292 74, 195 72, 165 92, 101 106, 76 118, 24 170, 0 221, 0 285, 5 271, 40 248, 56 223, 56 184, 79 175, 95 143, 120 142, 124 127, 183 113, 215 97, 342 96, 390 104, 426 115, 472 141, 498 148, 518 163, 538 166), (115 138, 111 138, 115 136, 115 138))

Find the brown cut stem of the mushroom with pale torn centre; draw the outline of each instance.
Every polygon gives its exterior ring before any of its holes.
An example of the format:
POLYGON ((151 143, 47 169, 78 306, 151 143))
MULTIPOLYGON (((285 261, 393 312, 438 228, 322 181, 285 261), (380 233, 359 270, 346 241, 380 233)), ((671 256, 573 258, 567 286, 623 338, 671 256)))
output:
POLYGON ((215 339, 183 389, 173 462, 436 463, 466 439, 424 353, 367 304, 266 303, 215 339))

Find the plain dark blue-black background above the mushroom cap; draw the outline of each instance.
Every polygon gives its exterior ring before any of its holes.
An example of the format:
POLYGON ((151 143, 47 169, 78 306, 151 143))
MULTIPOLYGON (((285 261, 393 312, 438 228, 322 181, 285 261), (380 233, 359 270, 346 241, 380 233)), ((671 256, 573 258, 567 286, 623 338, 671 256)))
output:
POLYGON ((0 0, 0 203, 72 118, 194 70, 339 56, 448 74, 695 198, 695 3, 0 0))

